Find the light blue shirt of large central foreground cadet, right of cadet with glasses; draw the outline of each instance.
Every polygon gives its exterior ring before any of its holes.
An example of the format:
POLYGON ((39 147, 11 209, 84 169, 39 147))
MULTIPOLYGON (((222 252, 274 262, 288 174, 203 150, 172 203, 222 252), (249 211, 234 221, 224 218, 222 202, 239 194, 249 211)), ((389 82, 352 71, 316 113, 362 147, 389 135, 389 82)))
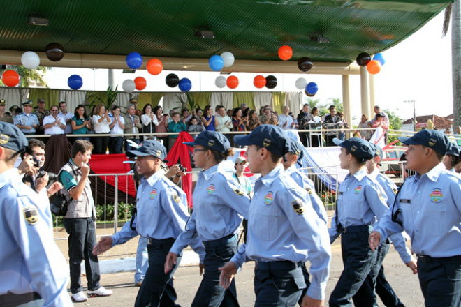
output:
POLYGON ((264 262, 311 262, 309 297, 325 298, 330 272, 331 249, 327 225, 317 214, 307 195, 279 165, 255 184, 249 210, 247 244, 232 262, 242 267, 248 259, 264 262))

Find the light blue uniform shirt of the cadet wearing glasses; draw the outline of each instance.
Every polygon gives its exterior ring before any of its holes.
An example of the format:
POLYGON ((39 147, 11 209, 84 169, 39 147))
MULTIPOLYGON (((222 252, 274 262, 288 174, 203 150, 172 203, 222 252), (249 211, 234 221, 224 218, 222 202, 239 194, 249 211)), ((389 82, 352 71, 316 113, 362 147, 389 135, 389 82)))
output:
POLYGON ((198 173, 193 190, 193 213, 186 231, 180 234, 171 248, 173 253, 180 253, 197 234, 202 241, 237 234, 242 216, 248 217, 249 196, 235 182, 233 174, 224 168, 223 162, 198 173))

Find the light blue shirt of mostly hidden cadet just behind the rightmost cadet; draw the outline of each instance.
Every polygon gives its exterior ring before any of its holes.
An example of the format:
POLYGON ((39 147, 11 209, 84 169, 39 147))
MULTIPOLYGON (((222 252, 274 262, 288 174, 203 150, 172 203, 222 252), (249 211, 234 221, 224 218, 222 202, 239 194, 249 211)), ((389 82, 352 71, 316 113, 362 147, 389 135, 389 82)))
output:
MULTIPOLYGON (((386 194, 386 197, 388 198, 388 207, 392 207, 395 200, 395 193, 397 193, 397 186, 393 183, 392 180, 390 180, 389 177, 381 174, 377 168, 368 176, 372 179, 376 179, 376 182, 379 184, 383 192, 386 194)), ((394 248, 399 253, 402 261, 404 263, 410 262, 412 259, 411 252, 407 248, 407 244, 405 243, 402 232, 391 235, 389 239, 393 241, 394 248)))

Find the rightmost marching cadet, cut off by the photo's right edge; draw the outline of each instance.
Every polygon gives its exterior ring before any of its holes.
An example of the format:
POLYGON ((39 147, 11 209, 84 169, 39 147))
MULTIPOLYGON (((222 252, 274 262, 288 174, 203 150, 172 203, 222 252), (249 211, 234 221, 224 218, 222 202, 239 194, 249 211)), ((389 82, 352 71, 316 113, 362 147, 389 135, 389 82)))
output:
POLYGON ((418 258, 425 306, 461 304, 461 179, 441 163, 450 150, 448 137, 422 130, 399 137, 408 145, 407 169, 416 174, 400 188, 395 204, 369 236, 374 250, 390 234, 405 230, 418 258))

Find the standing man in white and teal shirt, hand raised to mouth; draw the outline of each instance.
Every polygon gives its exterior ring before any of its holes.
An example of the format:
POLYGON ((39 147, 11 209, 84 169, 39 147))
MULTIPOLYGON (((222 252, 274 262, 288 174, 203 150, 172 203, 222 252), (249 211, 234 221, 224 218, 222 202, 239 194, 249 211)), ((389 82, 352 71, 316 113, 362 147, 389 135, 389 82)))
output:
MULTIPOLYGON (((104 105, 98 110, 101 121, 107 121, 108 114, 104 105)), ((112 294, 112 290, 106 290, 99 284, 101 276, 98 256, 92 253, 96 245, 96 206, 88 179, 88 162, 92 156, 92 149, 93 145, 90 142, 76 140, 72 145, 72 158, 59 172, 59 182, 64 186, 63 193, 68 195, 67 197, 72 197, 64 216, 64 227, 69 235, 72 299, 78 302, 88 300, 80 284, 80 264, 84 259, 89 297, 105 297, 112 294)))

